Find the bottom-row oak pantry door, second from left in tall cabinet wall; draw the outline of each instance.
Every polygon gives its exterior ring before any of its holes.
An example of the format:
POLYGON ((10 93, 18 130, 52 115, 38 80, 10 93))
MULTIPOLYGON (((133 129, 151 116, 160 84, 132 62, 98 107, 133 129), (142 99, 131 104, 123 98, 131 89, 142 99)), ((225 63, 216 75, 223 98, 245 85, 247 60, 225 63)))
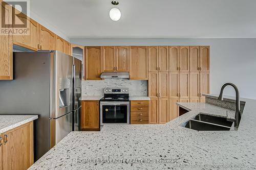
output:
POLYGON ((159 124, 169 121, 169 99, 159 99, 159 124))

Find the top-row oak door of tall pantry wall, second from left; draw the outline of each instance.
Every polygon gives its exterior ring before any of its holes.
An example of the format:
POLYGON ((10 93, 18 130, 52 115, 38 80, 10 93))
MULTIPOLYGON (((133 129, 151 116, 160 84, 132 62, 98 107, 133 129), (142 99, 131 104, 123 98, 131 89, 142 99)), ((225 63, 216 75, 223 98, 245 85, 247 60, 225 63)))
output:
POLYGON ((159 71, 169 71, 168 46, 159 46, 159 71))

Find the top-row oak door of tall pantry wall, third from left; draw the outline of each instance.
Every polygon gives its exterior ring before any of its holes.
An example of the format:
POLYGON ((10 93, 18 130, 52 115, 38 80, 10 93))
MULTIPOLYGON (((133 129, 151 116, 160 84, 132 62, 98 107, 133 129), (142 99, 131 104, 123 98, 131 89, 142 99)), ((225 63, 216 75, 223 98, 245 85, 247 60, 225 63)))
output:
POLYGON ((169 46, 169 71, 179 71, 179 46, 169 46))

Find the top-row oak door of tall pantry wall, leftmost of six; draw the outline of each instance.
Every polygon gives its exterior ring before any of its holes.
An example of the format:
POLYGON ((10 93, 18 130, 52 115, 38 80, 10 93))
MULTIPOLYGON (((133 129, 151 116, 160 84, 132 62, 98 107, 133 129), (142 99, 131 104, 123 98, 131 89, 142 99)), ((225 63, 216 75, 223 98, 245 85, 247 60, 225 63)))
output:
POLYGON ((158 46, 149 46, 148 53, 148 71, 158 71, 158 46))

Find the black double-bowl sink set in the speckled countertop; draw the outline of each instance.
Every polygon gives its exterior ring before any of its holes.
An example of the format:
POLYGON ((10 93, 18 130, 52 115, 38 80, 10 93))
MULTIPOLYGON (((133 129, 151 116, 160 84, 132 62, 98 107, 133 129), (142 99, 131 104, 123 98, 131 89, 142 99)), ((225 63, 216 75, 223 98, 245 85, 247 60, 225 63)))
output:
POLYGON ((233 124, 233 120, 227 117, 199 113, 181 126, 197 131, 229 131, 233 124))

